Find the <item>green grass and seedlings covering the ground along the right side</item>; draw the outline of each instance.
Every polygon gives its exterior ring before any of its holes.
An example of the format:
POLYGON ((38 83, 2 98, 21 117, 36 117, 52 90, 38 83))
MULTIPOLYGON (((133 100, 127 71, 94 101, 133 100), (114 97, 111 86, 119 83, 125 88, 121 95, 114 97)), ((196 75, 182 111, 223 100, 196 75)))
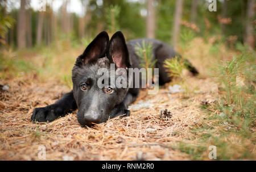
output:
POLYGON ((252 151, 256 141, 253 131, 256 121, 255 52, 239 46, 241 54, 232 60, 222 61, 213 68, 220 97, 216 103, 202 106, 207 112, 207 118, 192 128, 192 133, 199 141, 196 145, 179 146, 181 151, 191 154, 195 159, 207 156, 195 151, 200 144, 215 145, 217 160, 255 158, 252 151), (240 142, 233 141, 234 139, 240 142))

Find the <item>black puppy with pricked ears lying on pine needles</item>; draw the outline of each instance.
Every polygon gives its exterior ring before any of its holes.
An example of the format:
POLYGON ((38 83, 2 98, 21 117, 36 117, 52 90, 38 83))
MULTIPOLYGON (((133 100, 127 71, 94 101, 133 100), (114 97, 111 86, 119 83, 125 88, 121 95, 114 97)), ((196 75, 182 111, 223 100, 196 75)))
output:
MULTIPOLYGON (((49 106, 35 108, 31 120, 52 121, 77 108, 77 119, 81 125, 102 123, 121 114, 129 116, 127 107, 137 98, 139 88, 118 88, 112 86, 111 81, 108 86, 101 88, 98 82, 102 75, 97 71, 104 68, 110 72, 110 64, 115 64, 115 70, 125 69, 126 74, 130 69, 139 68, 135 45, 142 44, 142 41, 150 42, 154 48, 152 54, 154 59, 157 59, 155 68, 159 68, 159 84, 170 82, 171 78, 163 67, 163 62, 166 58, 179 56, 174 49, 154 39, 137 39, 125 43, 120 31, 114 33, 109 41, 108 33, 103 31, 86 47, 84 53, 77 57, 72 70, 73 90, 49 106)), ((188 61, 186 64, 193 74, 197 74, 197 70, 188 61)), ((115 79, 118 76, 115 76, 115 79)), ((129 79, 134 80, 128 77, 127 80, 129 79)))

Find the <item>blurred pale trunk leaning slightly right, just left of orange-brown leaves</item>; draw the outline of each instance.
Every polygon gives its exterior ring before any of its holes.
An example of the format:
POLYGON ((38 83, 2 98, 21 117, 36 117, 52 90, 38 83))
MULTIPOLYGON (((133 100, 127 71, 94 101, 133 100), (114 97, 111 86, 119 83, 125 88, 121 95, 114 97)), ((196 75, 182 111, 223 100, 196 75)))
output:
POLYGON ((180 20, 182 15, 183 0, 176 0, 174 29, 172 32, 172 44, 176 45, 179 42, 180 20))

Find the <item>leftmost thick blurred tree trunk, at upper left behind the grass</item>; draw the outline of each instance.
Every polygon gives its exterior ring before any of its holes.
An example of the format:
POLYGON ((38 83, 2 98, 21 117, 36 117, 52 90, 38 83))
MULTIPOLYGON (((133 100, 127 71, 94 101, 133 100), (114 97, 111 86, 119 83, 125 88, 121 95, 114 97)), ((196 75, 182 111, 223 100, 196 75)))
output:
POLYGON ((25 10, 26 0, 20 0, 20 9, 18 16, 18 48, 26 47, 26 10, 25 10))

